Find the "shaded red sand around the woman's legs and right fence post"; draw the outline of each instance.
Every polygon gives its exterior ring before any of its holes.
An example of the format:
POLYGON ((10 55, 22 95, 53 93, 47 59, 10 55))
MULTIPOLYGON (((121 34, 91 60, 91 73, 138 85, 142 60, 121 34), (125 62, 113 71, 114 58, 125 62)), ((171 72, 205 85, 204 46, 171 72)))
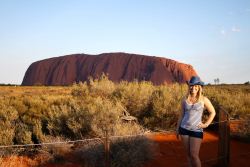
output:
MULTIPOLYGON (((174 134, 156 134, 149 137, 158 143, 154 159, 144 167, 185 167, 188 166, 183 145, 174 134)), ((236 140, 230 143, 230 167, 249 167, 250 144, 236 140)), ((204 133, 200 158, 203 167, 217 166, 218 137, 204 133)))

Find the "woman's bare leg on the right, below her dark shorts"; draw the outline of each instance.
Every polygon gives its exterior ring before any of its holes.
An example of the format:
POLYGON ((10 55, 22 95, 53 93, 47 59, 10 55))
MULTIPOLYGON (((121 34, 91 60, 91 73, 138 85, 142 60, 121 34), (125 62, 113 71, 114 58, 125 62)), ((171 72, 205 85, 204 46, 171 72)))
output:
POLYGON ((202 139, 197 137, 190 137, 190 157, 193 167, 201 167, 201 161, 199 158, 199 151, 202 139))

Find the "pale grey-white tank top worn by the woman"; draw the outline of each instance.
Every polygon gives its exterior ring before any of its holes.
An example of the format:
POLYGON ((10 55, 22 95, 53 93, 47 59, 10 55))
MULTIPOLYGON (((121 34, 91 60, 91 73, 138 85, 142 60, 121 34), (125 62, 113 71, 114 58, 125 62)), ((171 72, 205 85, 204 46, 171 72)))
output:
POLYGON ((181 127, 187 130, 202 132, 202 128, 198 128, 201 123, 202 114, 204 110, 204 102, 200 101, 195 104, 189 104, 185 100, 184 116, 181 121, 181 127))

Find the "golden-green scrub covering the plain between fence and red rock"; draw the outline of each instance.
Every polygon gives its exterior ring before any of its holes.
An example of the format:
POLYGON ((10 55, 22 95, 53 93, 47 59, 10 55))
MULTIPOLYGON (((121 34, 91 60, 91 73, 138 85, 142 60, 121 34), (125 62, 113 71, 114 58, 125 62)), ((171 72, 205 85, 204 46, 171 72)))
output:
MULTIPOLYGON (((68 87, 3 86, 0 145, 103 137, 105 130, 113 136, 139 134, 145 128, 175 128, 186 91, 187 86, 179 84, 154 86, 137 81, 115 84, 106 76, 68 87), (137 117, 138 122, 123 122, 120 119, 123 109, 137 117)), ((232 119, 249 120, 249 84, 208 85, 204 93, 217 112, 223 107, 232 119)), ((246 126, 249 124, 244 124, 244 132, 239 133, 249 136, 250 128, 246 126)))

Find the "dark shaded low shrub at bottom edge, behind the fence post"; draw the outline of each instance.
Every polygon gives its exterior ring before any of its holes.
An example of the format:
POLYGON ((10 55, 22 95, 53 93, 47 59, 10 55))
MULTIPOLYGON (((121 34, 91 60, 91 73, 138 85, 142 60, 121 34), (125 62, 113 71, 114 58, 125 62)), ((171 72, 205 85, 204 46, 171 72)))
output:
MULTIPOLYGON (((112 167, 137 167, 151 160, 155 144, 145 137, 112 139, 110 143, 110 165, 112 167)), ((103 144, 93 141, 76 149, 74 157, 84 166, 104 167, 103 144)))

